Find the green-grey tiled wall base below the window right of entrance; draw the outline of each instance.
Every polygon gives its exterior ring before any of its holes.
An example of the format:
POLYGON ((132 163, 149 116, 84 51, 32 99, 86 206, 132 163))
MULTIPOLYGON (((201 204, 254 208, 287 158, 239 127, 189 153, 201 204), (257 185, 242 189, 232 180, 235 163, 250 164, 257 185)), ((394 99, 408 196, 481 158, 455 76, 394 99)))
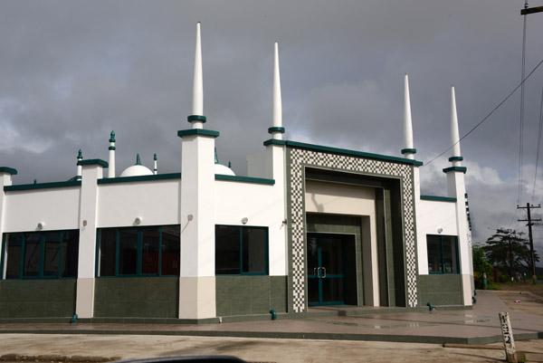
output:
POLYGON ((459 274, 419 275, 420 304, 462 305, 462 276, 459 274))

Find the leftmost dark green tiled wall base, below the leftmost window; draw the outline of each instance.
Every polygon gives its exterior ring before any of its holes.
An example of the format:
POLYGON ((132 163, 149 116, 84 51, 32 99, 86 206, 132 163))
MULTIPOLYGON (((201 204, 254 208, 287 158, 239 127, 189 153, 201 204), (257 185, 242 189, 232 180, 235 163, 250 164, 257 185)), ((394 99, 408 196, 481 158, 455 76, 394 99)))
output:
POLYGON ((71 317, 76 280, 0 282, 0 319, 71 317))

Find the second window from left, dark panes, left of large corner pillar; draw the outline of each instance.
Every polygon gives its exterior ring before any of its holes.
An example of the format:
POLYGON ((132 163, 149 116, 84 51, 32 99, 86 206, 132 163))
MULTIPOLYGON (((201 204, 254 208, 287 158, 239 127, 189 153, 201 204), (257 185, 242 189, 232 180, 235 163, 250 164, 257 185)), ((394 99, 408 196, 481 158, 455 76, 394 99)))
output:
POLYGON ((97 276, 178 276, 180 226, 101 228, 97 276))

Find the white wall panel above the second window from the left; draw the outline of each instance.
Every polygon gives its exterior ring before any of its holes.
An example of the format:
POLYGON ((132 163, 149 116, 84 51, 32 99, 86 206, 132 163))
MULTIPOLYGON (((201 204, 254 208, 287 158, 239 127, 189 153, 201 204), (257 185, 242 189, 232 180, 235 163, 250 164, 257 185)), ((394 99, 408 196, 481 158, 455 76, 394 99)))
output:
POLYGON ((180 179, 100 184, 98 227, 179 224, 180 179))

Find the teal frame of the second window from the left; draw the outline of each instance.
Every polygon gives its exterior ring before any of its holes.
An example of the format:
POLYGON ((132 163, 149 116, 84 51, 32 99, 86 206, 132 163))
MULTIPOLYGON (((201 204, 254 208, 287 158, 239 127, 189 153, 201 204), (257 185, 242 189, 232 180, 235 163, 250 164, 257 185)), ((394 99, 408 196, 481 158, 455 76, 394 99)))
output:
MULTIPOLYGON (((97 278, 123 278, 123 277, 157 277, 157 276, 179 276, 177 274, 163 274, 162 273, 162 250, 163 250, 163 231, 165 227, 176 227, 181 230, 180 224, 168 224, 168 225, 145 225, 145 226, 130 226, 130 227, 109 227, 109 228, 98 228, 96 230, 96 261, 95 261, 95 271, 94 275, 97 278), (116 231, 116 241, 115 241, 115 274, 100 276, 100 232, 104 230, 115 230, 116 231), (137 254, 136 254, 136 273, 120 273, 119 260, 120 260, 120 233, 121 231, 127 230, 137 230, 138 240, 137 240, 137 254), (157 273, 142 273, 142 258, 143 258, 143 233, 144 231, 157 230, 158 231, 158 272, 157 273)), ((181 271, 181 244, 179 242, 179 272, 181 271)))

